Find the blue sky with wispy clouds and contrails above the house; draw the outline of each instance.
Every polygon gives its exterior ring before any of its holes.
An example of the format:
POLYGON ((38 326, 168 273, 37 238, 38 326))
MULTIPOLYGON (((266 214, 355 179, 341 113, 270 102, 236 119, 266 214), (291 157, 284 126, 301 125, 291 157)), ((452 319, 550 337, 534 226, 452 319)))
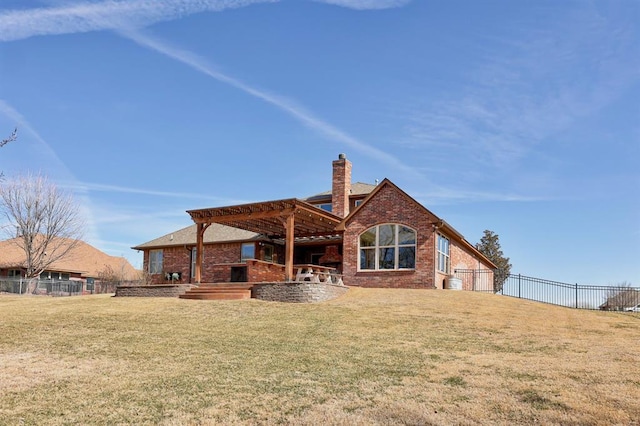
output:
POLYGON ((635 0, 2 0, 14 127, 0 170, 136 267, 185 210, 325 191, 346 153, 514 272, 640 285, 635 0))

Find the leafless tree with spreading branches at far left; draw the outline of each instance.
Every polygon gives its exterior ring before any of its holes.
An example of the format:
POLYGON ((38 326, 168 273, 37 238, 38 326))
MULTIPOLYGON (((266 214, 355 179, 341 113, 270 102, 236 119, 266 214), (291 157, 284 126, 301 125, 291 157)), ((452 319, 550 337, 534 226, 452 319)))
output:
MULTIPOLYGON (((5 233, 25 254, 26 278, 35 279, 80 242, 84 221, 71 193, 42 175, 25 175, 0 186, 5 233)), ((34 281, 34 280, 32 280, 34 281)))

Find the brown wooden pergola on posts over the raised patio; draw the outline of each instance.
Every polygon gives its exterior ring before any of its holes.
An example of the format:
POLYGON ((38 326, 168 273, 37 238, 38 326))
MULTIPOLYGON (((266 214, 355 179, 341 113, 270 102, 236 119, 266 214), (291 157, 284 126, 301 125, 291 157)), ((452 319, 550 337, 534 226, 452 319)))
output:
POLYGON ((339 216, 309 203, 290 198, 228 207, 187 210, 197 224, 195 280, 201 282, 204 231, 220 223, 285 241, 285 279, 293 278, 293 244, 297 237, 328 236, 340 233, 339 216))

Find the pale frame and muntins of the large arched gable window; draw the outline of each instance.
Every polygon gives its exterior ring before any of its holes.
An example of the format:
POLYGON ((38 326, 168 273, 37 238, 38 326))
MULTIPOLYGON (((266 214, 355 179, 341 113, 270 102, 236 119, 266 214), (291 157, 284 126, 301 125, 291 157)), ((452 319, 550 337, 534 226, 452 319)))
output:
MULTIPOLYGON (((417 263, 416 262, 417 247, 418 247, 418 231, 408 225, 405 225, 402 223, 380 223, 378 225, 371 226, 365 229, 363 232, 361 232, 358 235, 358 272, 415 271, 416 263, 417 263), (380 244, 380 229, 385 226, 392 226, 394 229, 393 236, 392 236, 392 243, 380 244), (411 243, 400 242, 399 237, 402 229, 409 230, 413 233, 413 242, 411 243), (370 232, 371 230, 375 230, 374 242, 372 245, 363 246, 362 236, 370 232), (412 262, 413 266, 409 268, 400 267, 400 264, 401 264, 400 252, 402 251, 401 249, 406 249, 406 248, 413 248, 413 262, 412 262), (383 253, 383 250, 393 250, 393 267, 391 268, 384 267, 384 259, 381 259, 381 257, 386 257, 386 254, 384 256, 381 256, 381 253, 383 253), (374 266, 373 268, 363 267, 364 266, 362 264, 363 255, 367 251, 373 253, 373 266, 374 266)), ((367 257, 370 257, 370 256, 367 256, 367 257)))

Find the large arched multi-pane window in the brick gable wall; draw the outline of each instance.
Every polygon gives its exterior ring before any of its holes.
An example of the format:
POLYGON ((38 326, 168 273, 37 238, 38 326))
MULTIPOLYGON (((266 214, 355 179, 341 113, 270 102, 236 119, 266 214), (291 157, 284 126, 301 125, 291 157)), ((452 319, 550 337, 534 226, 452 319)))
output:
POLYGON ((360 270, 416 267, 416 231, 396 224, 374 226, 360 234, 360 270))

